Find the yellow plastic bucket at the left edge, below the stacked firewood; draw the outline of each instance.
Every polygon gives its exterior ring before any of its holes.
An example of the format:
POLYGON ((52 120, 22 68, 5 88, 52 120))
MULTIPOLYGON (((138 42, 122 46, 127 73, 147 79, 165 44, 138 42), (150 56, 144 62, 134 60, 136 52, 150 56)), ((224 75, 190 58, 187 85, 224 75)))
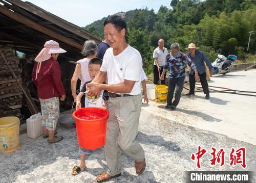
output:
POLYGON ((19 147, 19 118, 0 118, 0 152, 8 153, 19 147))

